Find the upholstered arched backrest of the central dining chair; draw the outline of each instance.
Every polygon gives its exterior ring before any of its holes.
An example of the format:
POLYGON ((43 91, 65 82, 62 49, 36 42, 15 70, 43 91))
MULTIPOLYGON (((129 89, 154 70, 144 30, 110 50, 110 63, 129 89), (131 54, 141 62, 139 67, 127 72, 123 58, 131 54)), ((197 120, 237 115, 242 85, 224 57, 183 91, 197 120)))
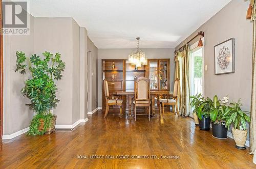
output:
POLYGON ((134 84, 135 101, 150 99, 150 82, 146 77, 139 77, 134 84))

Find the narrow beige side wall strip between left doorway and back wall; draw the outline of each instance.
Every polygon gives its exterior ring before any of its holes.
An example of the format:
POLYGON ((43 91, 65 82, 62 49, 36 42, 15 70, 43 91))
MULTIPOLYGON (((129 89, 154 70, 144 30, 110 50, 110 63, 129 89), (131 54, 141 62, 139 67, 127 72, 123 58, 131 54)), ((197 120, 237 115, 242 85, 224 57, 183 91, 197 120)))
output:
POLYGON ((97 79, 97 61, 98 61, 98 48, 93 44, 93 42, 90 40, 88 37, 88 51, 91 51, 92 54, 92 109, 88 111, 92 111, 95 108, 98 107, 98 91, 97 91, 97 86, 98 86, 98 79, 97 79))

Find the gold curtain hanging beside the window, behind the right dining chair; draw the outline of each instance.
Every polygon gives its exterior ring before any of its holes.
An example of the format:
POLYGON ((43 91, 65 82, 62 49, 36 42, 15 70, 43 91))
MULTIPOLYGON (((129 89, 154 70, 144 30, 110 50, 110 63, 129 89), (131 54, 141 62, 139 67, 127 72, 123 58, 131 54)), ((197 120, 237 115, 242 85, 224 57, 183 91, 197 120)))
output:
POLYGON ((189 115, 189 95, 190 95, 190 83, 189 83, 189 54, 188 44, 182 47, 182 51, 175 53, 175 78, 180 79, 180 114, 181 116, 189 115))

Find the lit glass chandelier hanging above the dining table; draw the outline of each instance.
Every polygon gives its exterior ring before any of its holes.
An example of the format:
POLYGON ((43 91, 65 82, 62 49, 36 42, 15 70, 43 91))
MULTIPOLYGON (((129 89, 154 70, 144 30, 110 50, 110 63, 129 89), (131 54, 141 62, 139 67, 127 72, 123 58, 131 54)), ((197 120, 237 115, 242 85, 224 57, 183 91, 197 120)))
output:
POLYGON ((147 58, 145 57, 145 52, 142 52, 141 50, 139 50, 140 38, 136 38, 136 39, 138 41, 137 51, 136 52, 133 51, 129 55, 128 63, 135 66, 135 68, 140 68, 141 65, 147 65, 147 58))

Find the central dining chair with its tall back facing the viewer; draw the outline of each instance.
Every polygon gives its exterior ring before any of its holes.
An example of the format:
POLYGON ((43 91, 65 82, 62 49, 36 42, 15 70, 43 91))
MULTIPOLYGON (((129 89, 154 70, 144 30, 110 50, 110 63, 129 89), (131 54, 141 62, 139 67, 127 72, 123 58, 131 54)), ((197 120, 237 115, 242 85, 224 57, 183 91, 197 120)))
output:
POLYGON ((147 107, 148 120, 150 121, 150 82, 145 77, 139 77, 134 83, 135 97, 134 116, 136 121, 136 107, 147 107))

